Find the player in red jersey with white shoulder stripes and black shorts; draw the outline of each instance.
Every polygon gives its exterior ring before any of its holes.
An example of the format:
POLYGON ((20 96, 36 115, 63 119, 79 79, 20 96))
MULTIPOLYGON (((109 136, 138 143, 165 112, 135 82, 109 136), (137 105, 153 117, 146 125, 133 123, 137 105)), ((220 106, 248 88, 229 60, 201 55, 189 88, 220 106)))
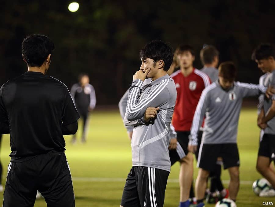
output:
MULTIPOLYGON (((169 153, 171 165, 176 161, 180 162, 179 207, 185 207, 190 205, 188 199, 193 179, 193 154, 187 150, 188 136, 201 92, 210 85, 210 79, 204 72, 193 67, 195 53, 191 46, 179 46, 175 55, 180 66, 180 70, 171 75, 175 81, 178 94, 172 119, 177 138, 171 139, 169 153)), ((194 193, 191 196, 194 197, 194 193)))

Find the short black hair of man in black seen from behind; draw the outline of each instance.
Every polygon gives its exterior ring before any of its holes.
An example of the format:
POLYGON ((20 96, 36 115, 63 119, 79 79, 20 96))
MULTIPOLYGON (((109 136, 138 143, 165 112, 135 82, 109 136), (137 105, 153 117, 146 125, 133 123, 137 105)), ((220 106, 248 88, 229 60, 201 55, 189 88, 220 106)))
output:
POLYGON ((22 42, 23 58, 31 67, 40 67, 53 50, 54 44, 46 35, 28 35, 22 42))

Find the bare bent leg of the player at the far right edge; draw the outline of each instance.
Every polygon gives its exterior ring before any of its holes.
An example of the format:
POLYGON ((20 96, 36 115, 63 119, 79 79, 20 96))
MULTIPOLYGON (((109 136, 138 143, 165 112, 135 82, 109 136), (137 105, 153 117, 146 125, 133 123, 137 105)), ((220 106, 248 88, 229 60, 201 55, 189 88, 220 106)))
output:
POLYGON ((275 172, 274 168, 270 165, 269 157, 258 156, 256 169, 275 188, 275 172))

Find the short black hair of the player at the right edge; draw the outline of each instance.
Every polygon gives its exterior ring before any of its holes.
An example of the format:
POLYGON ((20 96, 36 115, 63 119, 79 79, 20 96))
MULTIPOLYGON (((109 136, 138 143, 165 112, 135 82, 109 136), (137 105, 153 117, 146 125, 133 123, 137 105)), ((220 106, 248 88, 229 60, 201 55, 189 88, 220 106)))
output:
POLYGON ((275 48, 273 45, 269 43, 264 43, 258 45, 252 53, 252 60, 262 60, 267 59, 269 57, 273 57, 275 59, 275 48))

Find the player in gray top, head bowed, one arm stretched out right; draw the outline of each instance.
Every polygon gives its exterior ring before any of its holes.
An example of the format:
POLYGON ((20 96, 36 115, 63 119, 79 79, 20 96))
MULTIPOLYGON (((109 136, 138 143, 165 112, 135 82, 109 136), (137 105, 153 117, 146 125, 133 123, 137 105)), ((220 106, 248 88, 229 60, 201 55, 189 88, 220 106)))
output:
POLYGON ((223 158, 224 169, 229 170, 229 196, 236 201, 239 190, 239 152, 237 148, 237 127, 244 97, 259 96, 266 88, 234 82, 237 69, 233 62, 219 66, 219 79, 205 88, 201 94, 192 122, 188 149, 196 151, 197 133, 205 118, 202 143, 199 149, 199 172, 196 180, 197 206, 204 206, 206 179, 215 168, 217 157, 223 158))

